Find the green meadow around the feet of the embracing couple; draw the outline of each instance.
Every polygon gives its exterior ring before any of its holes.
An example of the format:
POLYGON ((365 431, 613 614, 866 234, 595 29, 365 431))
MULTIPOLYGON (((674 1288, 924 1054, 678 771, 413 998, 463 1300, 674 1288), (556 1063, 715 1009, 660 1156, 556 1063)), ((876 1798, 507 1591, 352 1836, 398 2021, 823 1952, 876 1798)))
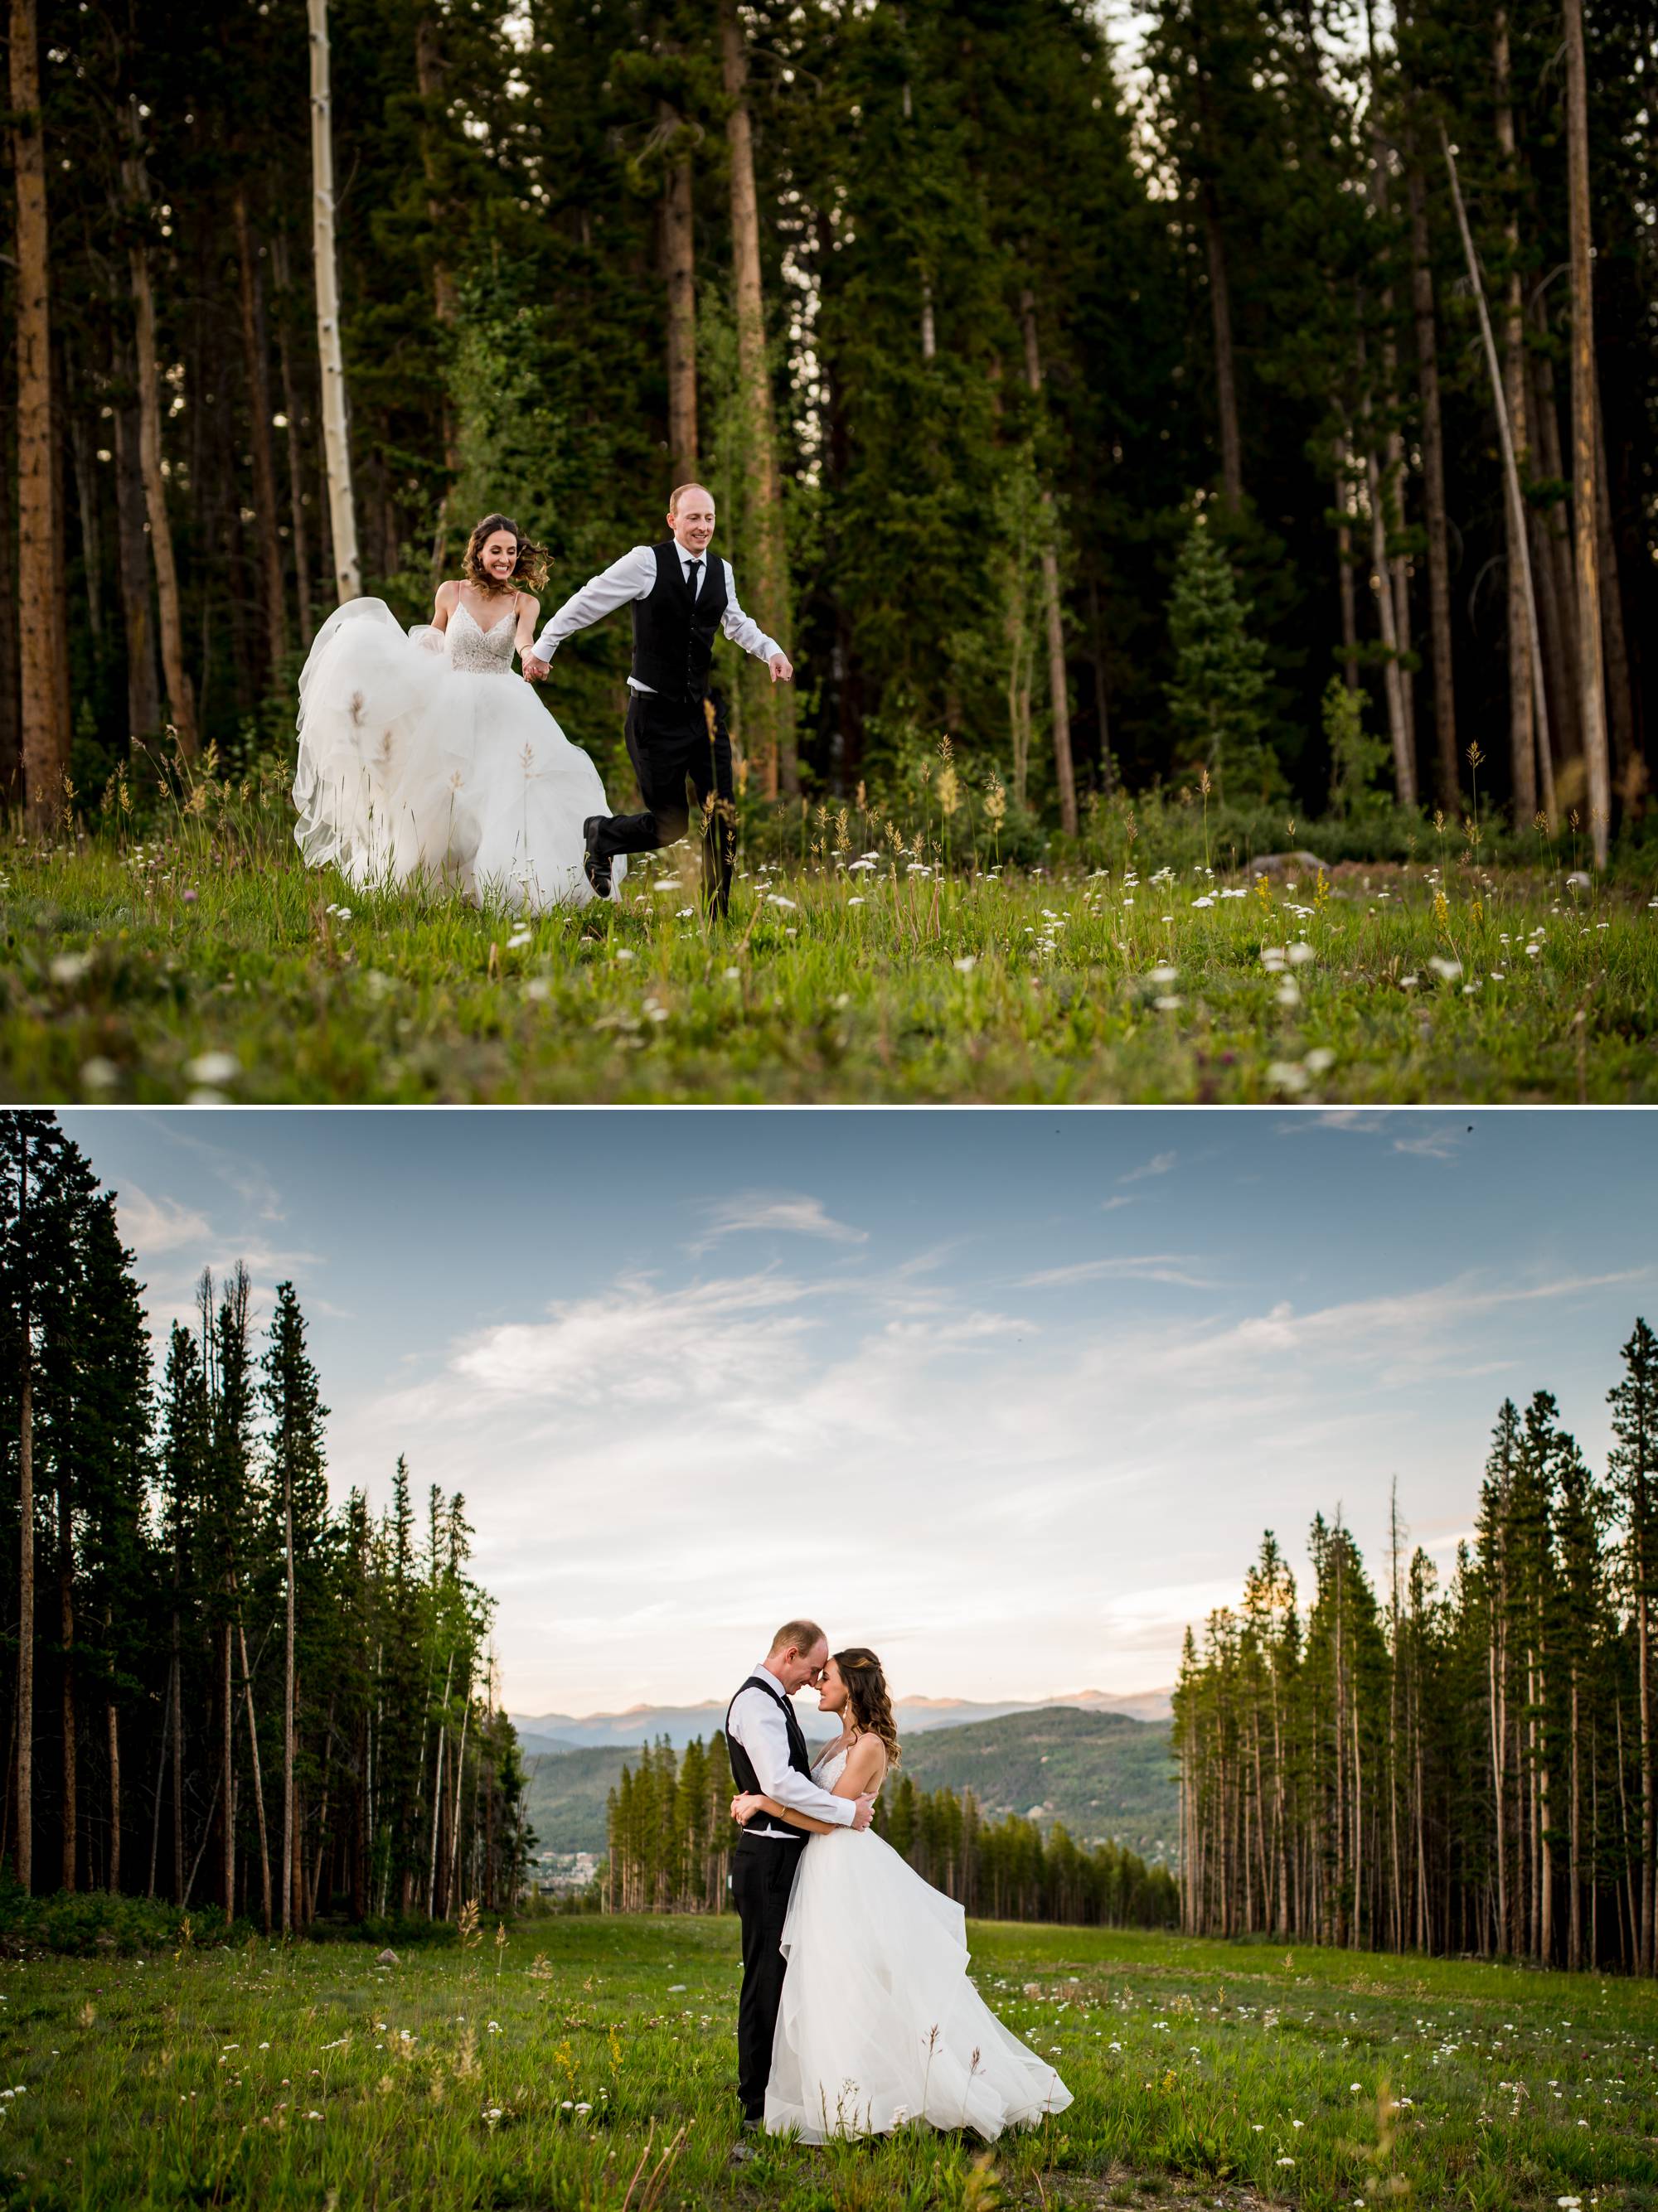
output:
POLYGON ((489 1933, 392 1969, 350 1942, 7 1962, 0 2201, 921 2212, 987 2208, 994 2168, 1045 2208, 1658 2203, 1651 1984, 976 1922, 981 1991, 1076 2104, 978 2168, 930 2130, 735 2163, 730 1918, 489 1933))

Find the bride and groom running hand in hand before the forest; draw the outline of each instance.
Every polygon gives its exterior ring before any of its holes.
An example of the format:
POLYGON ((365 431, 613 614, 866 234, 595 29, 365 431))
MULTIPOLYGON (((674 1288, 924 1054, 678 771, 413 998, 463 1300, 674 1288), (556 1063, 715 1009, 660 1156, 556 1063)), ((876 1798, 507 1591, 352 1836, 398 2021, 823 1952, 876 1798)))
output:
POLYGON ((704 812, 704 900, 730 898, 730 737, 711 688, 724 633, 792 679, 784 648, 737 602, 708 551, 704 484, 669 500, 669 538, 633 546, 536 635, 547 553, 507 515, 485 515, 432 622, 403 630, 383 599, 350 599, 317 633, 299 677, 294 838, 312 865, 359 887, 429 883, 520 914, 613 898, 626 856, 684 836, 704 812), (598 768, 527 684, 547 679, 576 630, 631 606, 626 750, 644 801, 611 814, 598 768))

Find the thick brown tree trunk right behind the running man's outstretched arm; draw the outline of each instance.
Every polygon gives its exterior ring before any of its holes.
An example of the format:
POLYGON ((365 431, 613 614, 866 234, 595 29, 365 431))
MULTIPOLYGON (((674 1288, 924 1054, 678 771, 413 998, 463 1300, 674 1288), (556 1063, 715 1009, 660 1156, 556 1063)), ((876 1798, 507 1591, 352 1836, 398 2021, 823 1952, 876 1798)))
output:
MULTIPOLYGON (((730 155, 730 257, 737 288, 737 385, 742 394, 744 507, 757 566, 753 613, 761 630, 781 641, 788 628, 788 551, 784 502, 777 473, 770 374, 766 367, 766 303, 759 283, 759 199, 755 190, 755 135, 748 117, 748 35, 737 18, 737 0, 719 0, 719 51, 730 155)), ((755 688, 761 701, 764 790, 799 794, 795 759, 795 699, 786 684, 755 688)))

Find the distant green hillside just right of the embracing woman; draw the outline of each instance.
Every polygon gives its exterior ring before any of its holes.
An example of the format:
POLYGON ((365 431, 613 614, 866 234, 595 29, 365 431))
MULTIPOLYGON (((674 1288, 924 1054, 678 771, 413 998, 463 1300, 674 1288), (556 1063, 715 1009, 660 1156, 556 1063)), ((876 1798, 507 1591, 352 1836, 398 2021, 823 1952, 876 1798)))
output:
POLYGON ((1153 1865, 1178 1856, 1180 1801, 1169 1723, 1116 1712, 1043 1712, 908 1736, 903 1772, 916 1790, 972 1790, 992 1814, 1036 1812, 1080 1840, 1127 1843, 1153 1865))

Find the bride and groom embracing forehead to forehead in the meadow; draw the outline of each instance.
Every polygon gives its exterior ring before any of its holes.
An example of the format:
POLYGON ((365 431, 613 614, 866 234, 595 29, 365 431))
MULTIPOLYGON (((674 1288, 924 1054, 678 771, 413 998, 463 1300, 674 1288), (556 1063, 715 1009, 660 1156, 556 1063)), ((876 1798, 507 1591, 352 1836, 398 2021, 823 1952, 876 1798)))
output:
POLYGON ((874 1652, 830 1657, 817 1621, 786 1621, 730 1701, 726 1747, 744 2128, 821 2143, 921 2119, 992 2139, 1063 2112, 1071 2093, 967 1978, 963 1907, 870 1827, 899 1761, 874 1652), (817 1761, 792 1705, 808 1688, 841 1723, 817 1761))

